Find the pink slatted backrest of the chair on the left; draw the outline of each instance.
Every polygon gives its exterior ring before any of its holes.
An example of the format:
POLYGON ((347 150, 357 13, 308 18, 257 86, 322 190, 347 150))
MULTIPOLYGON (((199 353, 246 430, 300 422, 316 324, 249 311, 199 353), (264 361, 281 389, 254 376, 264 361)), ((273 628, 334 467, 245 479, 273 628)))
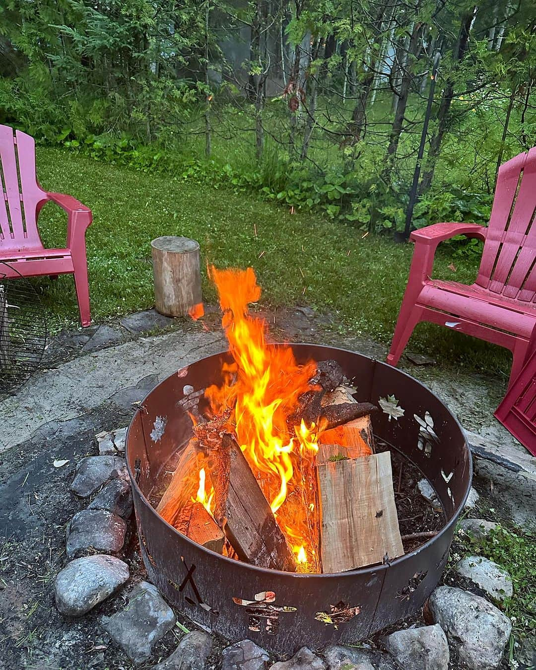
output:
POLYGON ((34 138, 5 125, 0 125, 0 176, 1 247, 43 249, 37 209, 47 196, 36 177, 34 138))

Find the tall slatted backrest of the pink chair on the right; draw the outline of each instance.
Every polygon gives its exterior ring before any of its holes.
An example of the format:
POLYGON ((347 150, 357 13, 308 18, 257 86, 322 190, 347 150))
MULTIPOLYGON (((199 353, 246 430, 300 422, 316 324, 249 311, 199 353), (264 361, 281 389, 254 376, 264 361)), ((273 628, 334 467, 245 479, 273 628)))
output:
POLYGON ((501 165, 476 283, 531 301, 536 254, 536 148, 501 165))

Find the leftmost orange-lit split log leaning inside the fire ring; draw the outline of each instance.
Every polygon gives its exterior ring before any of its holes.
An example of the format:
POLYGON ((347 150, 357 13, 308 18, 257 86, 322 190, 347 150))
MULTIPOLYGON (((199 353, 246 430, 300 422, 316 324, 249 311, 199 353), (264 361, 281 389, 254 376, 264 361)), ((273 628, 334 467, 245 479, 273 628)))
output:
POLYGON ((182 452, 170 485, 165 490, 156 511, 168 523, 196 496, 199 486, 199 470, 202 454, 198 455, 198 440, 192 438, 182 452))

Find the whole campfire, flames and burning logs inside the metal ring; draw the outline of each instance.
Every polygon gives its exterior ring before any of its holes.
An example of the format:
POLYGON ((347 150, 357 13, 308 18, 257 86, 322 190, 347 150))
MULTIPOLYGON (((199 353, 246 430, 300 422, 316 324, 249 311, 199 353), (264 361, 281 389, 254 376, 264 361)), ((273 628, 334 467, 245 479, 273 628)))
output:
MULTIPOLYGON (((251 314, 253 269, 210 269, 232 362, 190 410, 157 511, 180 533, 264 568, 336 573, 403 555, 391 454, 335 360, 298 363, 251 314)), ((201 310, 196 310, 199 316, 201 310)))

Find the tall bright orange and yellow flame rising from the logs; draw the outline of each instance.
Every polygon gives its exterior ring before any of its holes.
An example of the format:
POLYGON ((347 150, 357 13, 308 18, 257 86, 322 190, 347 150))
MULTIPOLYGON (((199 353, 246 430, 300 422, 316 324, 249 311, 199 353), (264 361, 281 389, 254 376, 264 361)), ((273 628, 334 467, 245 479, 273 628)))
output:
POLYGON ((306 563, 309 556, 314 568, 317 541, 311 537, 314 524, 309 523, 314 503, 308 498, 305 471, 312 472, 318 439, 314 425, 307 427, 302 421, 292 429, 287 417, 297 409, 299 396, 310 389, 316 364, 300 365, 289 346, 267 343, 265 320, 248 310, 249 303, 261 297, 252 268, 210 267, 209 275, 218 289, 222 326, 234 360, 222 370, 223 385, 206 389, 210 409, 214 415, 232 409, 237 440, 277 513, 279 527, 299 563, 306 563))

